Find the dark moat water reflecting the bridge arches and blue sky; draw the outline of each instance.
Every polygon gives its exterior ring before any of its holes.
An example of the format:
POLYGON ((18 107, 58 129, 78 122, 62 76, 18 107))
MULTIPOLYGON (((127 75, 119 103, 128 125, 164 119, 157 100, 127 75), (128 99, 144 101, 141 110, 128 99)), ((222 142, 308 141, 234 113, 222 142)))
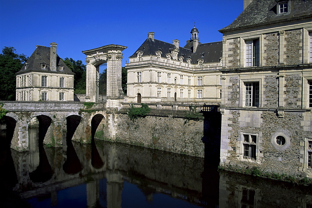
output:
POLYGON ((2 207, 311 207, 311 187, 122 143, 0 152, 2 207))

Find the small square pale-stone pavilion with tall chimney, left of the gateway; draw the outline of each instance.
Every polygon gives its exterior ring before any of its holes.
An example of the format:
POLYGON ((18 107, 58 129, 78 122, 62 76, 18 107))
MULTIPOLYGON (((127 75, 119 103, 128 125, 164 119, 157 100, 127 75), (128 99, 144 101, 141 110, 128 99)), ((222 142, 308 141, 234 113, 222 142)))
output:
POLYGON ((51 47, 36 50, 16 73, 17 101, 73 101, 74 74, 51 47))

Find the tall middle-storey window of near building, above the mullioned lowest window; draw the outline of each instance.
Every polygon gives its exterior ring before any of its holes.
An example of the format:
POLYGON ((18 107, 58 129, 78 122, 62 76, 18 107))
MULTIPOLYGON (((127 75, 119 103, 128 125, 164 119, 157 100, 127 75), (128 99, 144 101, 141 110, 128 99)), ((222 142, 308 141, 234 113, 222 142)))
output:
POLYGON ((259 107, 259 82, 245 83, 245 106, 259 107))

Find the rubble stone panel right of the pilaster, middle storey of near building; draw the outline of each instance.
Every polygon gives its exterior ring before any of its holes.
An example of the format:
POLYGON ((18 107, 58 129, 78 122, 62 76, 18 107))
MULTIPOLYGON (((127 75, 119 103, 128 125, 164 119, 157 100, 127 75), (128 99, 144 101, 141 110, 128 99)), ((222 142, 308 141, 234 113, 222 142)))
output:
POLYGON ((285 75, 286 88, 285 94, 285 107, 288 109, 301 108, 301 76, 300 74, 285 75))

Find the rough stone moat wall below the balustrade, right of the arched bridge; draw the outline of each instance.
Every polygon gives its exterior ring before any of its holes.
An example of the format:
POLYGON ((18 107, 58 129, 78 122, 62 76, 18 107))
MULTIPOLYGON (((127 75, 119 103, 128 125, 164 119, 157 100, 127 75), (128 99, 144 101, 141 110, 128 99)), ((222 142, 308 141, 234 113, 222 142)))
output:
POLYGON ((125 114, 117 116, 115 141, 204 157, 203 121, 158 116, 131 121, 125 114))

